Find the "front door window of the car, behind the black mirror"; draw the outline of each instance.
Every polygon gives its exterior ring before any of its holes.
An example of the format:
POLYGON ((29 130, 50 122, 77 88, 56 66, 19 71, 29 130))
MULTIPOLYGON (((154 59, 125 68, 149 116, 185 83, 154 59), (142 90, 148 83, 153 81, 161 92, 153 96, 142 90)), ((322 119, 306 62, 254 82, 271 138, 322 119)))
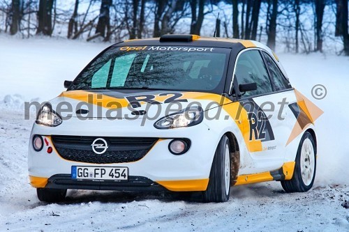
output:
POLYGON ((235 68, 235 78, 238 84, 253 82, 257 84, 257 89, 246 92, 244 97, 271 93, 273 91, 267 68, 258 50, 249 50, 239 56, 235 68))

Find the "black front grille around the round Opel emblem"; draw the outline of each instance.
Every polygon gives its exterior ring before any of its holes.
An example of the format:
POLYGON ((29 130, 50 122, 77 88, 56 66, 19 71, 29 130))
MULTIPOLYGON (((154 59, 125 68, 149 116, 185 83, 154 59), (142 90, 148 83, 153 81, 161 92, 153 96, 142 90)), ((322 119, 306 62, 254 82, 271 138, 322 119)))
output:
POLYGON ((138 161, 147 155, 156 141, 158 138, 52 136, 54 147, 62 158, 91 164, 138 161), (103 154, 94 153, 92 150, 91 144, 98 138, 107 141, 108 148, 103 154))

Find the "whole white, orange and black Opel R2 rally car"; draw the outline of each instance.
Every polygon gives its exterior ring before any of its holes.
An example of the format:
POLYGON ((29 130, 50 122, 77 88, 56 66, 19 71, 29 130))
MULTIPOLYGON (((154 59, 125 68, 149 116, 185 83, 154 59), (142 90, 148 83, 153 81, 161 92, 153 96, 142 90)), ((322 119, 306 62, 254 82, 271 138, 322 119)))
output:
POLYGON ((77 189, 202 192, 222 202, 232 185, 313 185, 320 109, 259 42, 128 40, 64 84, 31 132, 29 179, 40 201, 77 189))

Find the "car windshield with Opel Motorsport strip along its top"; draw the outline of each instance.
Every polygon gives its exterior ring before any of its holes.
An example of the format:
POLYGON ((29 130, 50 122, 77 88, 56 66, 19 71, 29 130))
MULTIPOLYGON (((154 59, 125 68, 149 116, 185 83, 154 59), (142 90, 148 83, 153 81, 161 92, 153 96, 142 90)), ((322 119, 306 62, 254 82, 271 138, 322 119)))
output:
POLYGON ((217 47, 111 47, 84 68, 70 90, 223 91, 229 53, 217 47))

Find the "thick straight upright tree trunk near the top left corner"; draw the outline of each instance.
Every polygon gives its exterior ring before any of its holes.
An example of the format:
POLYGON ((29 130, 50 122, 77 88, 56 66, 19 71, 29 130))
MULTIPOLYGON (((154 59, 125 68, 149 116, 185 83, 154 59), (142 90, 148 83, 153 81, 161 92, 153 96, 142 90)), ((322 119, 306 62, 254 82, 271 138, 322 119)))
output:
POLYGON ((54 0, 40 0, 38 10, 38 29, 36 34, 52 36, 52 8, 54 0))

